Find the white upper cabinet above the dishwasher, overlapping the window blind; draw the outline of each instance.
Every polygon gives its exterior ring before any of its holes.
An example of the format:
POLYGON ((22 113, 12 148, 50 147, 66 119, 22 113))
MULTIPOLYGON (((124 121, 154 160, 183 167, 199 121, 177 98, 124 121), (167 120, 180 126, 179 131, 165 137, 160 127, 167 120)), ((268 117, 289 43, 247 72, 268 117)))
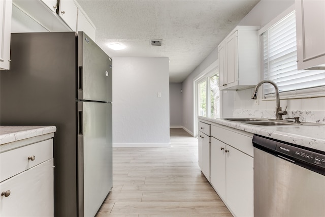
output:
POLYGON ((298 70, 325 68, 325 1, 296 0, 298 70))

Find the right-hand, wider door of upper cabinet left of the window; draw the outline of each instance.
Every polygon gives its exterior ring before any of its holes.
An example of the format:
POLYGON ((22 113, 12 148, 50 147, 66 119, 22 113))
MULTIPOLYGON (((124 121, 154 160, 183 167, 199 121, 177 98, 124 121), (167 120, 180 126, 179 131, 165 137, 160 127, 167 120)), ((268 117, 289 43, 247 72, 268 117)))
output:
POLYGON ((226 87, 238 84, 238 31, 225 40, 226 87))

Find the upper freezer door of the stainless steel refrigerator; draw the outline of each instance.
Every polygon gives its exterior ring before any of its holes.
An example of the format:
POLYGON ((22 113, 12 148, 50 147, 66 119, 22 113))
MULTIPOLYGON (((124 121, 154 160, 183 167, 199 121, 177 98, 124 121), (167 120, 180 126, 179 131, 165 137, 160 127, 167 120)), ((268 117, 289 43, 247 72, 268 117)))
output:
POLYGON ((78 100, 112 102, 112 59, 78 33, 78 100))

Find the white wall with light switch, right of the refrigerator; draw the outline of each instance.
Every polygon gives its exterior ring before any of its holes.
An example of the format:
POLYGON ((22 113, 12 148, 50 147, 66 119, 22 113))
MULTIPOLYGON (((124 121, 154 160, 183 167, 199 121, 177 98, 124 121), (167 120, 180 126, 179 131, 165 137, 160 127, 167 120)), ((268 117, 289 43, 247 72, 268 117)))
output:
POLYGON ((169 58, 113 58, 113 146, 169 146, 169 126, 169 58))

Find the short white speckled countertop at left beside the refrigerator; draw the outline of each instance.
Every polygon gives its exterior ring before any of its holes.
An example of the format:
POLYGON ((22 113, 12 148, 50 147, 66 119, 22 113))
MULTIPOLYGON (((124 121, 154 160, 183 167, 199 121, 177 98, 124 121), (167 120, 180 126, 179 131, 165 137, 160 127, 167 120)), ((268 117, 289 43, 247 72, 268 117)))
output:
POLYGON ((0 126, 0 145, 54 132, 55 126, 0 126))

